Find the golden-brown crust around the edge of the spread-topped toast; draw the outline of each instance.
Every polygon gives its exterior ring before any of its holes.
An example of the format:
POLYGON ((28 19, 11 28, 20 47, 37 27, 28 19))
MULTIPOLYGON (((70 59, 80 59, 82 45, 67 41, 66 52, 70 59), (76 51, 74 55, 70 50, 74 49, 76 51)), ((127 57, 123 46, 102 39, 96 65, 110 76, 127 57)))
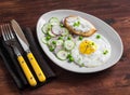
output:
MULTIPOLYGON (((70 32, 73 32, 73 33, 75 33, 75 35, 79 35, 79 36, 83 36, 83 37, 89 37, 89 36, 92 36, 95 31, 96 31, 96 29, 95 29, 95 27, 93 26, 90 30, 88 30, 88 31, 81 31, 81 30, 75 30, 72 26, 69 26, 68 24, 67 24, 67 18, 69 18, 69 17, 78 17, 78 16, 75 16, 75 15, 70 15, 70 16, 67 16, 65 19, 64 19, 64 25, 65 25, 65 27, 70 31, 70 32)), ((84 18, 83 18, 84 19, 84 18)), ((87 19, 84 19, 84 21, 87 21, 87 19)))

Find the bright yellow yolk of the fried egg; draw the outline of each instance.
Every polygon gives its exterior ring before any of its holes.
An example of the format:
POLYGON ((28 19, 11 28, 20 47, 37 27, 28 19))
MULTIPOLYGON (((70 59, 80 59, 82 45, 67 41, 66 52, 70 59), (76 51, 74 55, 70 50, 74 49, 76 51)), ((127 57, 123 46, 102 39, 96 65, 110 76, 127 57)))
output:
POLYGON ((84 40, 79 45, 79 51, 81 54, 92 54, 96 51, 98 45, 90 40, 84 40))

